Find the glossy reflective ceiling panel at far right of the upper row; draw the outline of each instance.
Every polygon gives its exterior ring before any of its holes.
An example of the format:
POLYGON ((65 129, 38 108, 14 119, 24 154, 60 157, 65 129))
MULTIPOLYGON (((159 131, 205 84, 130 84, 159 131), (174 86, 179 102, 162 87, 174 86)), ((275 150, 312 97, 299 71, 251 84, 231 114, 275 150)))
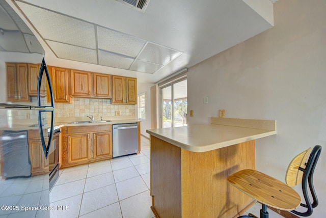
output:
POLYGON ((166 65, 181 54, 180 51, 176 51, 164 46, 156 45, 153 43, 147 43, 144 50, 138 59, 148 61, 151 63, 166 65))

